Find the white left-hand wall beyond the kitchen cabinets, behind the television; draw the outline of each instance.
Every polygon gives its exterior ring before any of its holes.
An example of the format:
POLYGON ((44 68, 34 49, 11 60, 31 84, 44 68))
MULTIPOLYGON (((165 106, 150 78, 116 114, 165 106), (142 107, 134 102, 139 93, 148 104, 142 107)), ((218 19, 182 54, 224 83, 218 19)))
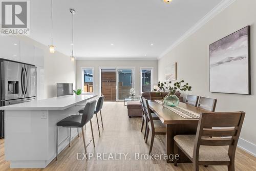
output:
MULTIPOLYGON (((28 44, 44 50, 45 56, 45 98, 56 96, 57 82, 74 83, 75 88, 75 62, 70 57, 59 52, 49 53, 49 48, 39 42, 26 37, 15 36, 17 39, 26 41, 28 44)), ((49 37, 50 38, 50 37, 49 37)), ((57 50, 57 49, 56 49, 57 50)), ((39 93, 39 92, 37 92, 39 93)))

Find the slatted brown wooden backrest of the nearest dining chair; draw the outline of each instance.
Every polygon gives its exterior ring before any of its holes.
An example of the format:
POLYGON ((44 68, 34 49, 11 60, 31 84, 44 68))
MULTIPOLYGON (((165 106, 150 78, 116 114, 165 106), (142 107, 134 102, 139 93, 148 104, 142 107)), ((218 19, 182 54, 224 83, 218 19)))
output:
POLYGON ((200 114, 193 158, 195 157, 196 160, 198 161, 200 145, 228 145, 228 155, 230 157, 230 161, 233 160, 240 132, 242 129, 244 117, 245 112, 211 112, 200 114), (212 127, 217 128, 214 129, 212 127), (231 128, 227 129, 227 127, 231 128))

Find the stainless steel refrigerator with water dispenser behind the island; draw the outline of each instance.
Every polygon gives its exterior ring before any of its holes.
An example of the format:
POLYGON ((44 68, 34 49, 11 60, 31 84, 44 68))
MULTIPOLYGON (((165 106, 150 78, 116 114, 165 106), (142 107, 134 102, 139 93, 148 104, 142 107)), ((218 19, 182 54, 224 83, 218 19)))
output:
MULTIPOLYGON (((36 99, 36 67, 1 60, 1 106, 36 99)), ((4 138, 4 111, 0 115, 0 138, 4 138)))

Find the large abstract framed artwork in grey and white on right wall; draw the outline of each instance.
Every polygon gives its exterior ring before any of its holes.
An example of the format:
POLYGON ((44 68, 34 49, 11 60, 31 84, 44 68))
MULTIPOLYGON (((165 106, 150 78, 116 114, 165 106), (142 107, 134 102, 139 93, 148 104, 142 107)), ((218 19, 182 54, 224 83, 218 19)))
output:
POLYGON ((209 45, 209 89, 251 94, 250 26, 209 45))

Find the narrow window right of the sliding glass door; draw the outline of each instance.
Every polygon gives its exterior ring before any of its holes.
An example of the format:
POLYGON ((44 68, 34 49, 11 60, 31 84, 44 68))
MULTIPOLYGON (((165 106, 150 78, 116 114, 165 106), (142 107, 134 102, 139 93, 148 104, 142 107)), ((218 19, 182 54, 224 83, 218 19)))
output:
POLYGON ((153 90, 153 68, 141 68, 141 92, 153 90))

